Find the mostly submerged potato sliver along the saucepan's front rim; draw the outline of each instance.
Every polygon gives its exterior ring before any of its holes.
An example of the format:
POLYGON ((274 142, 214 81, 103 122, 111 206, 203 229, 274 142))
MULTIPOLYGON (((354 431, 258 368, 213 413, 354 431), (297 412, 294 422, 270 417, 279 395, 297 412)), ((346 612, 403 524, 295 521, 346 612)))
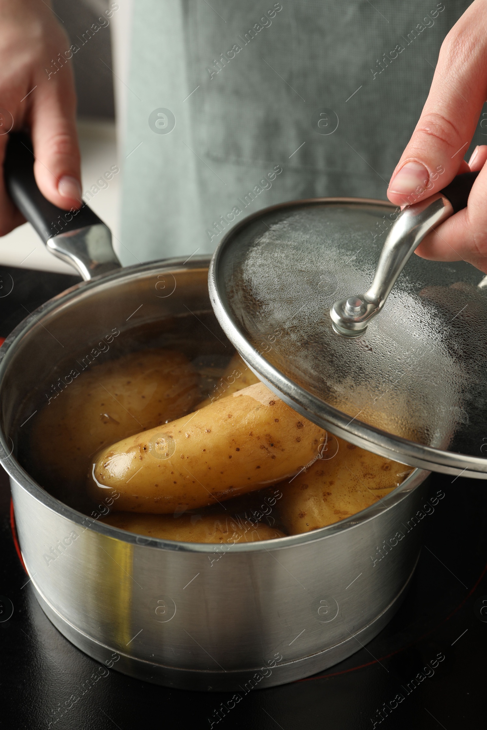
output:
POLYGON ((122 530, 147 537, 158 537, 178 542, 257 542, 285 537, 284 533, 269 525, 242 524, 241 520, 226 515, 134 515, 133 512, 115 512, 103 522, 122 530))

